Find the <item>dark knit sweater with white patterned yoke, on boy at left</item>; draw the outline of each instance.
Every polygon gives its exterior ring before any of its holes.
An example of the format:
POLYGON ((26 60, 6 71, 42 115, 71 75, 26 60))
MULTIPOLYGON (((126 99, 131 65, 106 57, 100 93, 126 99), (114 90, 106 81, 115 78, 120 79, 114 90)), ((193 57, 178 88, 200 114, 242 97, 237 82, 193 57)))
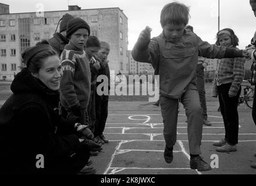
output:
POLYGON ((87 108, 91 91, 90 65, 83 49, 67 44, 61 54, 61 105, 87 108))

